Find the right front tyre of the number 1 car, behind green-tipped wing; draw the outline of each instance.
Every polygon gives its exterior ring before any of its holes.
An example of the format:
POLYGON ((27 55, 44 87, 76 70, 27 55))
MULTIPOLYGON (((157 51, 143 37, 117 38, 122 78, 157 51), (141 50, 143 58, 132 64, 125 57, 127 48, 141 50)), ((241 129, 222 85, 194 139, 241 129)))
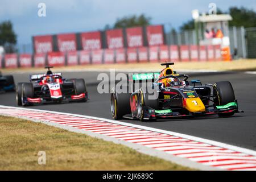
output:
MULTIPOLYGON (((214 96, 214 104, 226 105, 229 102, 234 102, 236 100, 234 95, 234 89, 232 84, 229 81, 219 81, 213 85, 213 96, 214 96)), ((222 113, 218 114, 220 117, 228 117, 233 115, 234 113, 222 113)))

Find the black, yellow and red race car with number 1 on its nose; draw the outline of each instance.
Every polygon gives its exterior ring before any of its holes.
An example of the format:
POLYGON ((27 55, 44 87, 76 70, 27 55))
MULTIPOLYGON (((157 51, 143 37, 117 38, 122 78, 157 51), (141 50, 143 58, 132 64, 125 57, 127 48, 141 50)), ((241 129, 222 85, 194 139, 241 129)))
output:
POLYGON ((188 81, 188 75, 174 72, 170 65, 160 73, 127 74, 127 93, 111 90, 111 113, 114 119, 141 121, 217 114, 229 117, 238 110, 234 90, 229 81, 201 84, 188 81), (146 82, 146 84, 145 84, 146 82), (137 88, 137 89, 136 89, 137 88))

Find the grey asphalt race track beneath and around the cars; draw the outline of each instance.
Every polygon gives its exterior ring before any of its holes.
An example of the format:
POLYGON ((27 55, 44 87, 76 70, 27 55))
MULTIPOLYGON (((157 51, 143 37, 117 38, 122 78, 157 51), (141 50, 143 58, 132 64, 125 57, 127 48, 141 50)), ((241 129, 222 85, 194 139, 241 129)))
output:
MULTIPOLYGON (((90 100, 86 103, 40 105, 31 106, 30 108, 112 119, 110 114, 110 96, 109 94, 99 94, 97 92, 97 75, 98 72, 67 72, 63 74, 67 78, 84 78, 88 82, 87 89, 90 100)), ((14 78, 16 83, 28 81, 28 74, 16 74, 14 78)), ((211 75, 194 75, 191 78, 198 78, 203 84, 213 84, 216 81, 223 80, 230 81, 238 100, 239 109, 244 110, 245 113, 238 113, 229 118, 211 116, 191 119, 168 119, 155 122, 122 121, 256 150, 256 75, 243 72, 214 73, 211 75)), ((15 93, 1 93, 0 105, 17 106, 15 93)))

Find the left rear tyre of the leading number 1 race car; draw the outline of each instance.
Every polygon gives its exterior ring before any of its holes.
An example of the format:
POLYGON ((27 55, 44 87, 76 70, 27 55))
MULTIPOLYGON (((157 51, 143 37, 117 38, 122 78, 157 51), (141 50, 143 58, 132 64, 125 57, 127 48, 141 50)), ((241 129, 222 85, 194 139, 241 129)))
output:
POLYGON ((110 108, 112 117, 122 119, 123 115, 131 113, 130 94, 112 93, 110 97, 110 108))

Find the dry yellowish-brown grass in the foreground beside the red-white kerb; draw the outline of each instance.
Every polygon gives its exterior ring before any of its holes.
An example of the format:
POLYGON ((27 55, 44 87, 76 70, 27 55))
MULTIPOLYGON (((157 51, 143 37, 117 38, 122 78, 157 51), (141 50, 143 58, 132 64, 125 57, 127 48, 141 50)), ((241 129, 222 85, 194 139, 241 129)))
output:
POLYGON ((43 123, 0 116, 0 170, 191 170, 43 123), (46 165, 38 152, 46 152, 46 165))

